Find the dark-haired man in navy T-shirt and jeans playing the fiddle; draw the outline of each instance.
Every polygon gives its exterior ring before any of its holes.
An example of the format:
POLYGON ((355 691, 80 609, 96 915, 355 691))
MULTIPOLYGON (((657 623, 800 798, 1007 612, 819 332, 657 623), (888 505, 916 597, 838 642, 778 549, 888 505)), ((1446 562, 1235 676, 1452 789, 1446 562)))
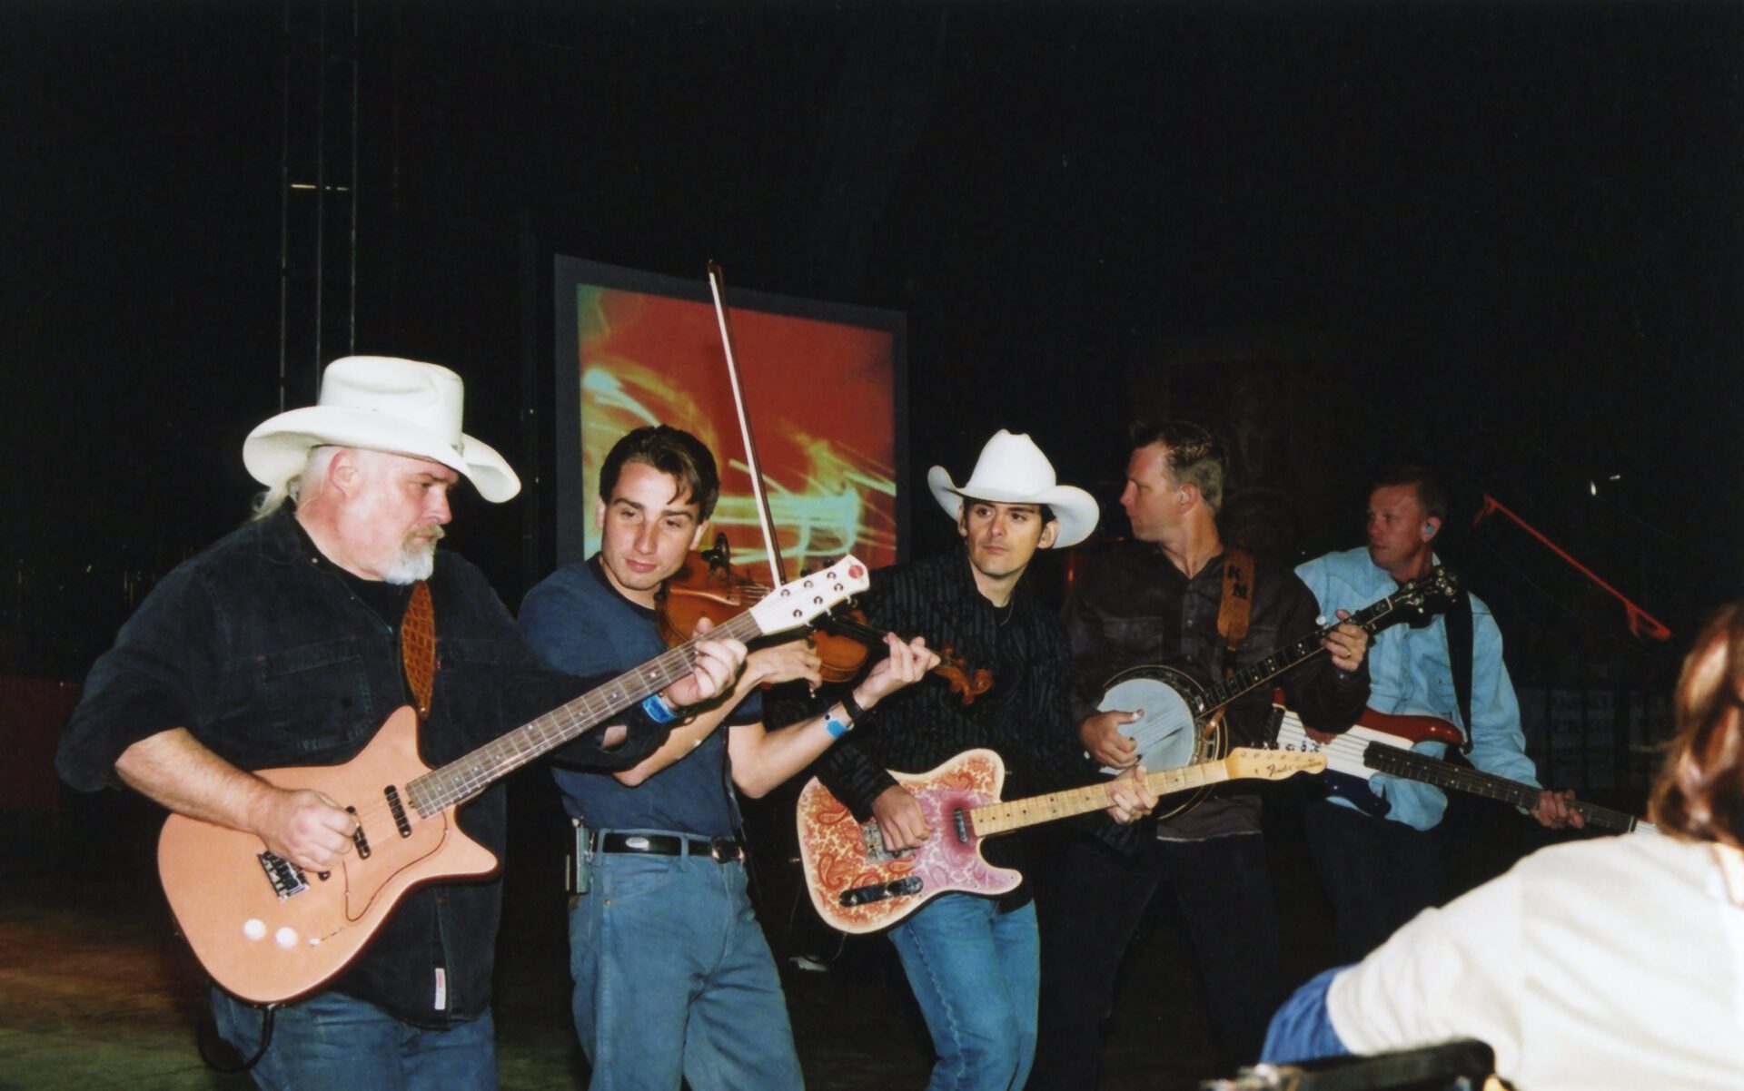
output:
MULTIPOLYGON (((528 643, 567 671, 623 671, 664 647, 661 586, 703 540, 720 479, 689 432, 651 425, 600 467, 600 551, 521 603, 528 643)), ((804 641, 753 652, 731 695, 675 727, 633 769, 555 770, 577 824, 570 908, 576 1033, 591 1088, 771 1091, 802 1084, 774 959, 746 896, 736 793, 760 796, 853 728, 938 657, 888 638, 889 655, 821 715, 766 730, 755 690, 804 678, 804 641), (726 730, 715 730, 726 723, 726 730)))

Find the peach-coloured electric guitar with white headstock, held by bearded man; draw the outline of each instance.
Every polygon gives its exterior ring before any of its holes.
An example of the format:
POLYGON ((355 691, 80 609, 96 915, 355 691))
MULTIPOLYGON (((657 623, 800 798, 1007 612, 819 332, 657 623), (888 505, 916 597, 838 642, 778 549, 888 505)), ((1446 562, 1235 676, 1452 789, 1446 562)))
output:
MULTIPOLYGON (((865 565, 842 558, 710 638, 748 641, 794 629, 865 589, 865 565)), ((269 852, 253 833, 173 814, 157 864, 176 924, 213 981, 237 997, 270 1004, 307 993, 338 974, 413 887, 497 870, 497 857, 455 823, 460 803, 691 669, 691 647, 680 645, 434 770, 419 760, 410 708, 344 765, 258 770, 272 784, 314 788, 351 810, 356 850, 317 875, 269 852)))

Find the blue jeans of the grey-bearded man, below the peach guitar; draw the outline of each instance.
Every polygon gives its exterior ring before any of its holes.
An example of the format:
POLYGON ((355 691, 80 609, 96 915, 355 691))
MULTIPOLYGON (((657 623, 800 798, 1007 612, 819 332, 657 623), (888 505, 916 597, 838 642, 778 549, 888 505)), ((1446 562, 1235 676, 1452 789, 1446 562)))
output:
MULTIPOLYGON (((262 1009, 215 988, 218 1033, 244 1058, 260 1049, 262 1009)), ((324 992, 272 1016, 272 1046, 249 1070, 262 1091, 497 1091, 490 1013, 446 1030, 403 1023, 324 992)))

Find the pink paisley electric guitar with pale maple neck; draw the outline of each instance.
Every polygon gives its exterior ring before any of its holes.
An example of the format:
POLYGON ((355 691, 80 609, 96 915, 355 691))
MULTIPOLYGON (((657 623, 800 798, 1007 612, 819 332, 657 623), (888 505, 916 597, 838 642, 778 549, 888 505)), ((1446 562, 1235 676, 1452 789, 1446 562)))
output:
MULTIPOLYGON (((1144 783, 1153 793, 1168 795, 1235 779, 1282 781, 1322 769, 1320 755, 1236 749, 1221 762, 1153 772, 1144 783)), ((1015 891, 1024 877, 989 864, 980 854, 982 838, 1109 805, 1107 783, 999 802, 1005 762, 991 749, 966 749, 931 772, 891 776, 914 793, 933 830, 919 849, 886 850, 877 823, 855 821, 816 777, 799 793, 806 889, 818 915, 842 932, 889 927, 947 891, 987 896, 1015 891)))

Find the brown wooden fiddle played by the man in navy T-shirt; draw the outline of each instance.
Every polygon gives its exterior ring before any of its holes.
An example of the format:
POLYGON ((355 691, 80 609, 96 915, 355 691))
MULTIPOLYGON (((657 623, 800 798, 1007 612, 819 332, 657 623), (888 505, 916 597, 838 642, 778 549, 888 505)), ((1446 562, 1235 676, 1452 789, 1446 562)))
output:
MULTIPOLYGON (((673 573, 656 594, 656 622, 668 647, 691 640, 696 622, 708 619, 720 624, 755 605, 769 587, 759 584, 745 568, 732 565, 727 535, 715 535, 715 547, 685 558, 684 568, 673 573)), ((865 624, 858 610, 848 617, 825 615, 827 629, 809 629, 806 638, 821 661, 825 681, 851 681, 865 666, 870 645, 884 643, 886 631, 865 624)), ((957 659, 949 647, 938 648, 938 666, 931 674, 944 678, 963 704, 992 688, 992 673, 957 659)))

